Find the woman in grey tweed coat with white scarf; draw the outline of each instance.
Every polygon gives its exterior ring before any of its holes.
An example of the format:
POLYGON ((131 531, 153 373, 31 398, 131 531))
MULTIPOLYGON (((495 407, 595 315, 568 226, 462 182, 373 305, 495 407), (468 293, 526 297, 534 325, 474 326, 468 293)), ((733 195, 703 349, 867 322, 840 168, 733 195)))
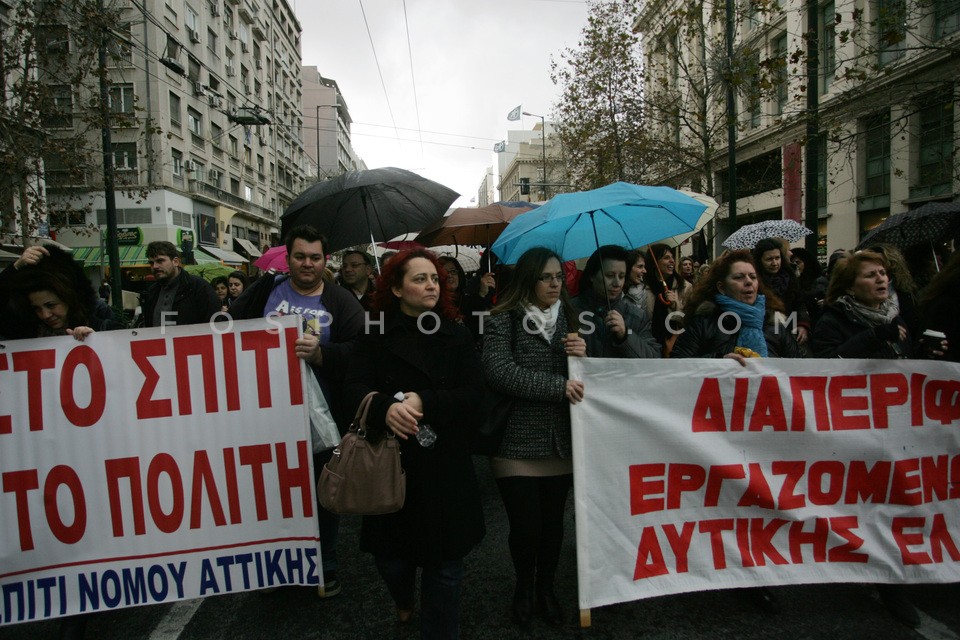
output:
POLYGON ((512 617, 522 627, 535 611, 548 624, 563 623, 554 576, 573 481, 569 403, 583 399, 583 383, 567 377, 567 356, 587 353, 564 287, 560 257, 530 249, 484 327, 487 382, 514 398, 491 467, 510 521, 512 617))

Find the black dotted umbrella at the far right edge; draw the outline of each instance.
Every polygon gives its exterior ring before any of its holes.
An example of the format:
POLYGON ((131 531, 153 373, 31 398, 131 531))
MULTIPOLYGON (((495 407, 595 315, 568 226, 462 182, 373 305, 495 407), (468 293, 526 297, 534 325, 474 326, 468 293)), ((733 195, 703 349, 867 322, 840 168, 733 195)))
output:
POLYGON ((903 251, 918 244, 943 242, 957 232, 960 232, 960 203, 928 202, 890 216, 864 236, 857 249, 882 242, 903 251))

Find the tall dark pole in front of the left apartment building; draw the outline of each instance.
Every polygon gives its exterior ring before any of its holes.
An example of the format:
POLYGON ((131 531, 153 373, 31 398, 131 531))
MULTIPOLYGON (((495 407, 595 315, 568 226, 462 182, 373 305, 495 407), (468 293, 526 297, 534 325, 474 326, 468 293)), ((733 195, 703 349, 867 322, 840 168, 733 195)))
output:
MULTIPOLYGON (((103 0, 97 1, 97 12, 102 19, 103 0)), ((100 29, 98 69, 100 74, 100 137, 103 143, 103 196, 107 210, 107 255, 110 257, 110 297, 113 309, 123 317, 123 282, 120 279, 120 248, 117 244, 117 196, 113 166, 113 138, 110 132, 110 83, 107 79, 107 38, 110 31, 106 25, 100 29)))

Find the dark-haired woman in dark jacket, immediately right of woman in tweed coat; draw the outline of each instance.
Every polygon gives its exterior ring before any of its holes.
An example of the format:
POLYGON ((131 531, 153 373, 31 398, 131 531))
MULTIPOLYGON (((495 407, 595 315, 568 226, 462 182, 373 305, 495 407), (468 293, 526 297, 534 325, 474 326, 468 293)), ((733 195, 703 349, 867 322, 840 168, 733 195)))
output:
POLYGON ((581 314, 581 333, 591 358, 659 358, 646 308, 624 296, 630 255, 617 245, 593 252, 580 277, 573 303, 581 314))

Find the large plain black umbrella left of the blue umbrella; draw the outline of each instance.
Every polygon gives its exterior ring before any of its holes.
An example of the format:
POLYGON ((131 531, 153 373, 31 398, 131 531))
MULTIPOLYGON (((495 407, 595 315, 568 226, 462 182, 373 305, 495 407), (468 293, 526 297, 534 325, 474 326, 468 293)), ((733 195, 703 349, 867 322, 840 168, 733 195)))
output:
POLYGON ((309 224, 327 237, 328 252, 420 231, 441 218, 459 194, 396 167, 348 171, 318 182, 287 207, 286 235, 309 224))

